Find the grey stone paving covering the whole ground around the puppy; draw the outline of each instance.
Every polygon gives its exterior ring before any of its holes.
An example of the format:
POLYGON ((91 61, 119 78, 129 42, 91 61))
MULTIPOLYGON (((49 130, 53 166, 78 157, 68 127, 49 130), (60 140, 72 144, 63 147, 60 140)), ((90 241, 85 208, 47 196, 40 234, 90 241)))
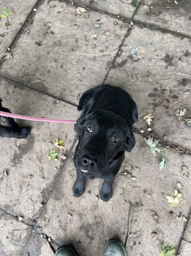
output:
POLYGON ((54 249, 73 243, 80 256, 101 256, 112 237, 126 242, 128 256, 157 256, 163 242, 175 246, 177 256, 189 256, 189 1, 177 6, 174 1, 77 2, 12 3, 11 33, 0 38, 1 53, 11 45, 13 56, 0 64, 3 106, 16 114, 77 119, 84 91, 102 83, 120 86, 138 105, 136 146, 126 153, 107 203, 99 198, 102 180, 87 180, 84 194, 74 198, 73 125, 18 120, 32 133, 27 139, 0 140, 0 256, 53 255, 44 234, 54 249), (77 7, 87 12, 79 15, 77 7), (152 30, 140 28, 147 24, 152 30), (29 84, 36 80, 46 84, 29 84), (183 116, 176 111, 185 108, 183 116), (150 113, 155 116, 149 125, 143 119, 150 113), (49 162, 47 154, 61 135, 65 149, 57 149, 58 160, 49 162), (156 157, 144 140, 148 136, 160 139, 156 157), (162 156, 167 165, 159 170, 162 156), (173 196, 176 187, 184 202, 172 207, 165 195, 173 196))

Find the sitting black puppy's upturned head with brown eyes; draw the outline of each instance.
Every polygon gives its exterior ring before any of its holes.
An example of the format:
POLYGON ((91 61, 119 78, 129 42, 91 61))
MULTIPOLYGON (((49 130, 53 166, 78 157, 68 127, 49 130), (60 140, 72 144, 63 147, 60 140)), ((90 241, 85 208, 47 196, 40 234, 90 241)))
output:
POLYGON ((76 168, 86 176, 101 176, 120 151, 130 152, 135 140, 124 119, 99 110, 80 117, 74 126, 79 135, 76 168))

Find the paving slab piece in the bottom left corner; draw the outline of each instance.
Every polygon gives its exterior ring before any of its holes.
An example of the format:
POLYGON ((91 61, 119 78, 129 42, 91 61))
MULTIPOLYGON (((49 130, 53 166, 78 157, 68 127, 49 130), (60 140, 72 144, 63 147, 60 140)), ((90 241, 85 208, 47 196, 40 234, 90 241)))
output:
POLYGON ((31 227, 0 210, 0 255, 18 256, 31 231, 31 227))

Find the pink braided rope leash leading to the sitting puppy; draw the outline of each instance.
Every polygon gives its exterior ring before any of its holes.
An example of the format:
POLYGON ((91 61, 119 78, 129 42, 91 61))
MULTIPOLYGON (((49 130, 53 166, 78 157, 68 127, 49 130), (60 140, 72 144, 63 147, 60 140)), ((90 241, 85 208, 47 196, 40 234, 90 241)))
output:
POLYGON ((4 111, 0 111, 0 116, 6 116, 17 119, 24 119, 30 121, 39 121, 39 122, 53 122, 53 123, 67 123, 67 124, 76 124, 75 120, 67 119, 52 119, 52 118, 43 118, 43 117, 32 117, 32 116, 22 116, 17 114, 12 114, 4 111))

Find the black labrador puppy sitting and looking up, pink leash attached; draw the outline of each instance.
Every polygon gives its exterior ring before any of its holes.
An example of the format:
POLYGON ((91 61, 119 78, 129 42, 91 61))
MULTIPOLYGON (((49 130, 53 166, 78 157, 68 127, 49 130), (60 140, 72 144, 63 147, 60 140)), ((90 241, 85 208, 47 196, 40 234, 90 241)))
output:
POLYGON ((138 120, 138 109, 128 92, 111 85, 86 91, 79 100, 81 116, 74 125, 79 142, 74 153, 77 171, 73 186, 74 197, 84 193, 86 177, 103 178, 100 197, 108 201, 112 185, 135 140, 133 124, 138 120))

